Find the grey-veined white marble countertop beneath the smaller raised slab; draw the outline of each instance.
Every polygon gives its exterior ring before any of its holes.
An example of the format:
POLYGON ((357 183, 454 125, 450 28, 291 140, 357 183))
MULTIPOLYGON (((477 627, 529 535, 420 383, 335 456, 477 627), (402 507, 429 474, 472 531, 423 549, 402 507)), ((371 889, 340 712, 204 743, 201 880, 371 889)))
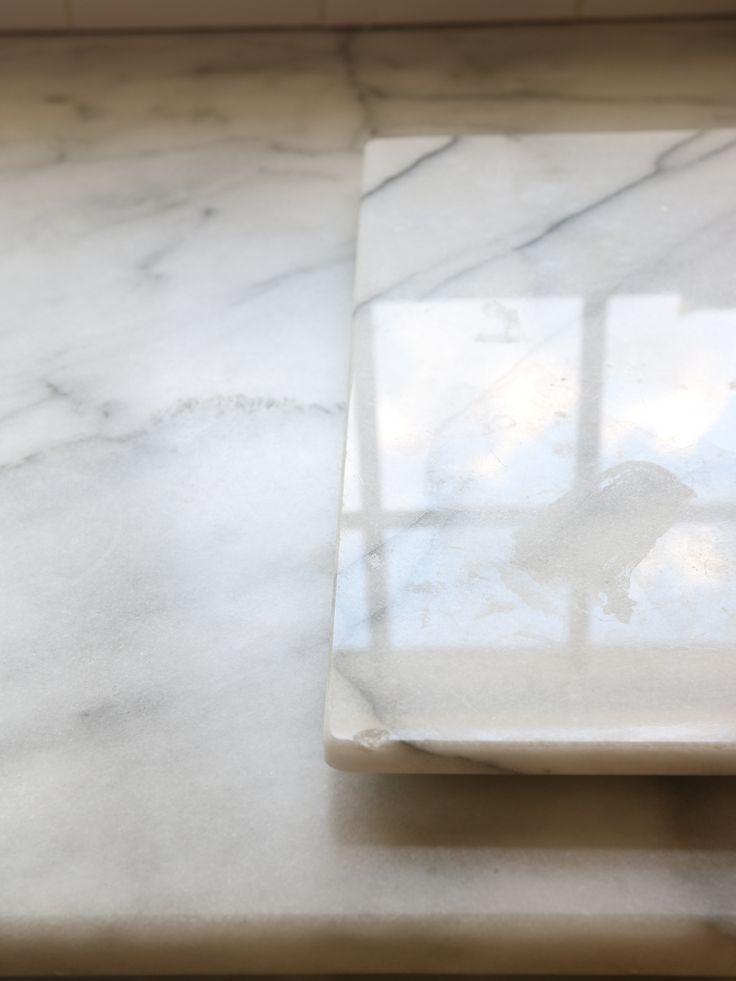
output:
POLYGON ((1 42, 2 973, 736 974, 732 780, 321 742, 366 137, 733 126, 735 44, 1 42))

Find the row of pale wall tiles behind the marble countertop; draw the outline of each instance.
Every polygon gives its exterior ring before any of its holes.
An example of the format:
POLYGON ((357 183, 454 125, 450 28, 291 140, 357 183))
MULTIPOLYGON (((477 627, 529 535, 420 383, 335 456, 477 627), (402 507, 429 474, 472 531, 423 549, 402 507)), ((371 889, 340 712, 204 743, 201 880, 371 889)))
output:
POLYGON ((0 30, 297 27, 736 14, 736 0, 0 0, 0 30))

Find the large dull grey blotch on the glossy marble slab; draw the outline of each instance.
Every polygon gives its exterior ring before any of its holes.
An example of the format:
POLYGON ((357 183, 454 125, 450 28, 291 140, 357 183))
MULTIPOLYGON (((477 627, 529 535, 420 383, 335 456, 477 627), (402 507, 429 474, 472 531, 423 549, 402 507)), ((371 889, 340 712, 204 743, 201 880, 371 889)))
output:
POLYGON ((513 563, 541 585, 564 581, 603 594, 604 612, 628 623, 634 569, 693 494, 658 464, 621 463, 563 494, 522 528, 513 563))

